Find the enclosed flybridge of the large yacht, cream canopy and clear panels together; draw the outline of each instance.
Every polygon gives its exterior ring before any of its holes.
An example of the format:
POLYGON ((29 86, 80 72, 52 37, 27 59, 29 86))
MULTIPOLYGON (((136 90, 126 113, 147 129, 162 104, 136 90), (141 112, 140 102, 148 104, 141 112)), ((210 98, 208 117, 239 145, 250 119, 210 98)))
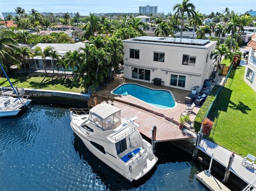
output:
POLYGON ((88 119, 102 131, 113 130, 121 125, 121 110, 107 103, 94 106, 88 119))

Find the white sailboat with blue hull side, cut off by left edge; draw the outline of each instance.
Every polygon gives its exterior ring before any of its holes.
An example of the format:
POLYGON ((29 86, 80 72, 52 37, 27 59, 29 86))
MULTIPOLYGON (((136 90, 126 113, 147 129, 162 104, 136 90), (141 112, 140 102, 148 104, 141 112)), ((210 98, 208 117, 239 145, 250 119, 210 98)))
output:
POLYGON ((16 116, 23 106, 31 102, 28 98, 0 96, 0 117, 16 116))

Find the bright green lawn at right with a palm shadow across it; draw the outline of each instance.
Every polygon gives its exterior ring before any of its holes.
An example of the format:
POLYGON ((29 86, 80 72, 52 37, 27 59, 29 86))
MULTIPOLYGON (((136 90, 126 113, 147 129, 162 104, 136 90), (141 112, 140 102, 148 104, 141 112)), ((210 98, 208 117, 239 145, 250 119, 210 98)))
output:
POLYGON ((256 92, 244 82, 245 67, 230 73, 209 118, 214 120, 207 139, 246 156, 256 156, 256 92))

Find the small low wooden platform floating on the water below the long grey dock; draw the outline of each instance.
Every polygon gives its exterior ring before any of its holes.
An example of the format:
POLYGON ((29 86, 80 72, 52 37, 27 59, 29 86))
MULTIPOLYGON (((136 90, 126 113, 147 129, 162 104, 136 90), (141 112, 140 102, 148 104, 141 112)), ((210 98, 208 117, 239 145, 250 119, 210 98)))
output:
POLYGON ((196 177, 211 191, 230 191, 230 189, 228 189, 206 170, 198 173, 196 177))

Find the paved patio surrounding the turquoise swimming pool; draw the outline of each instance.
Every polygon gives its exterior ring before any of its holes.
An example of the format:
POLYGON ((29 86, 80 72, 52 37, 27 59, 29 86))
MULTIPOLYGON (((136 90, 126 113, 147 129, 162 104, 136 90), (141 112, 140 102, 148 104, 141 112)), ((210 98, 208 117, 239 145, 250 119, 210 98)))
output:
MULTIPOLYGON (((190 94, 190 91, 172 88, 172 87, 166 87, 166 86, 156 86, 152 83, 146 83, 142 81, 135 81, 131 79, 124 79, 122 75, 115 75, 114 81, 112 81, 110 84, 107 85, 107 87, 104 88, 104 90, 100 90, 96 92, 96 95, 102 98, 106 98, 107 100, 115 100, 118 102, 126 103, 132 106, 135 106, 137 108, 146 110, 148 112, 151 112, 152 114, 156 114, 158 116, 164 117, 166 120, 172 121, 176 124, 179 123, 180 114, 184 112, 186 108, 185 104, 185 97, 190 94), (114 90, 116 87, 118 87, 121 84, 124 83, 136 83, 140 85, 144 85, 146 87, 152 88, 152 89, 163 89, 168 90, 172 92, 172 95, 174 99, 176 100, 176 107, 172 109, 161 109, 156 108, 150 104, 147 104, 146 102, 143 102, 137 98, 134 98, 133 96, 127 95, 114 95, 111 93, 112 90, 114 90)), ((200 106, 195 106, 193 109, 193 112, 190 114, 190 122, 185 124, 186 128, 190 128, 192 122, 194 121, 196 114, 198 113, 200 109, 200 106)))

